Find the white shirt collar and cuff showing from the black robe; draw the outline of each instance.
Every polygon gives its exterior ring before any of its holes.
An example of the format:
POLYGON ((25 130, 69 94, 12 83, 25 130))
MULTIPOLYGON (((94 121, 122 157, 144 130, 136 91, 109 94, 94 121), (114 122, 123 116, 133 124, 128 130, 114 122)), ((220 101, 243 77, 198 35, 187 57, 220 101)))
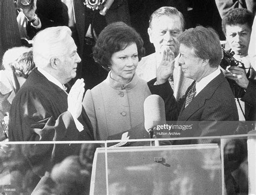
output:
MULTIPOLYGON (((52 76, 48 72, 44 71, 44 69, 42 69, 42 68, 37 68, 37 69, 39 72, 41 72, 45 76, 46 79, 48 79, 49 81, 51 81, 52 83, 57 85, 59 88, 63 89, 64 92, 66 92, 66 87, 62 83, 60 83, 54 76, 52 76)), ((72 113, 70 113, 70 114, 72 115, 72 113)), ((73 120, 76 124, 78 131, 81 132, 84 129, 83 125, 76 119, 76 117, 74 117, 73 115, 72 115, 72 117, 73 117, 73 120)))

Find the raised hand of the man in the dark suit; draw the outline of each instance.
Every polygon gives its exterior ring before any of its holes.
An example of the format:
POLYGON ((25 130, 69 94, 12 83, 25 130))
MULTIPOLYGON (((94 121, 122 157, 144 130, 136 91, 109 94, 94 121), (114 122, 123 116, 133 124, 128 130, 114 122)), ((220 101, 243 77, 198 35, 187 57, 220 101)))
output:
POLYGON ((169 47, 163 48, 163 58, 157 68, 157 84, 165 83, 173 75, 174 53, 169 47))

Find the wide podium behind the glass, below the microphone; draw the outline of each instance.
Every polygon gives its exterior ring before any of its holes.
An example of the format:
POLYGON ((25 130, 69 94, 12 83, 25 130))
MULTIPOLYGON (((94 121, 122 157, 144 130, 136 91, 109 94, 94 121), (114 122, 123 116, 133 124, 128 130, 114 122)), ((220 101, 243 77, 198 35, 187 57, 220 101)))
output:
POLYGON ((98 148, 90 194, 221 194, 221 187, 218 144, 98 148))

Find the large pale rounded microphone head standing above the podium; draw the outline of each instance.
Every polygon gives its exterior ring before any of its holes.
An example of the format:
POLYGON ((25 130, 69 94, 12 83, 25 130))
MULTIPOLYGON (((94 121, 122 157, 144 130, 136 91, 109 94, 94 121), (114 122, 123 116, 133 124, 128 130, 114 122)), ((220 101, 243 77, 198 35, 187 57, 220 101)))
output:
POLYGON ((166 123, 164 100, 159 95, 150 95, 144 101, 144 126, 147 132, 158 124, 166 123))

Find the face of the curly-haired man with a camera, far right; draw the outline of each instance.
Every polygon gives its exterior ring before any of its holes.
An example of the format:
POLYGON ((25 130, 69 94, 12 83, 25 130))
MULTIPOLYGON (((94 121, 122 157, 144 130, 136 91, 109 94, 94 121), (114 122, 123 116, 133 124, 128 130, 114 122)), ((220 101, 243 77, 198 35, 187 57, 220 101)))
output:
POLYGON ((226 38, 235 54, 245 57, 248 55, 252 30, 247 24, 226 25, 226 38))

